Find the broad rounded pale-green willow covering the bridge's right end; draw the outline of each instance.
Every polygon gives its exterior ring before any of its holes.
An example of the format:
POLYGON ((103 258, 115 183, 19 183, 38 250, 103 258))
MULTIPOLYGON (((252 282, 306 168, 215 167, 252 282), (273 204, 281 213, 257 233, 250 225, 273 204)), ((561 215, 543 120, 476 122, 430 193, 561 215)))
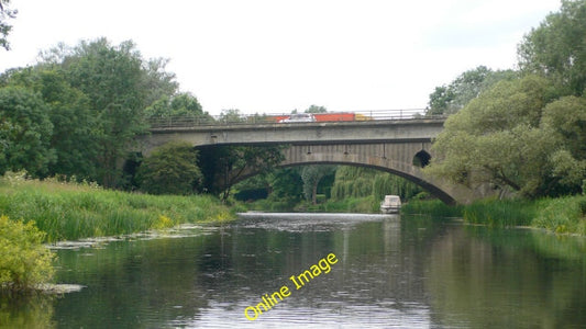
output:
MULTIPOLYGON (((584 107, 582 100, 556 97, 553 83, 538 76, 497 83, 447 118, 433 145, 439 157, 425 170, 457 183, 491 183, 530 197, 570 192, 560 186, 560 173, 568 172, 562 160, 584 159, 583 145, 573 141, 584 134, 584 107), (564 121, 565 115, 575 120, 564 121)), ((573 168, 575 178, 565 183, 579 186, 581 167, 573 168)))

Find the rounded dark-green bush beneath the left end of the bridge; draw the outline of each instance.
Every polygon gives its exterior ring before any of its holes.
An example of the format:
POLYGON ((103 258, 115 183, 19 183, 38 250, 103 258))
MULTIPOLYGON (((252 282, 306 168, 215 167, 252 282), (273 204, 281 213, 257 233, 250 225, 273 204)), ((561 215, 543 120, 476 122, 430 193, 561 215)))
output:
POLYGON ((192 194, 201 190, 198 152, 188 143, 169 143, 153 150, 139 168, 137 180, 151 194, 192 194))

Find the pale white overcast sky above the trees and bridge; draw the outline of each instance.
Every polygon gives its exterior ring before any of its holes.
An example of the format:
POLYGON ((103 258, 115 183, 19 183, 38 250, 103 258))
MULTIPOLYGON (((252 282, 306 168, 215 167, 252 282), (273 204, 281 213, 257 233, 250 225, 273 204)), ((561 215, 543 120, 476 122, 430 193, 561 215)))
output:
POLYGON ((132 39, 170 59, 204 111, 422 109, 436 86, 485 65, 515 68, 517 44, 560 0, 12 0, 0 71, 59 42, 132 39))

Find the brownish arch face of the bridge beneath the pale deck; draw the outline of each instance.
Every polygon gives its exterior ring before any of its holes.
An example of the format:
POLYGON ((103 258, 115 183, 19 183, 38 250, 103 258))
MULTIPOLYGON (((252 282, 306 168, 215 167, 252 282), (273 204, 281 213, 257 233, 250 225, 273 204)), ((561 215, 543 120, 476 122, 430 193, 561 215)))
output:
MULTIPOLYGON (((387 171, 402 177, 429 191, 446 204, 466 204, 486 196, 490 191, 468 189, 428 177, 421 170, 432 152, 429 141, 292 145, 283 150, 279 167, 303 164, 347 164, 387 171), (484 193, 483 193, 484 192, 484 193)), ((243 179, 256 174, 250 171, 243 179)))

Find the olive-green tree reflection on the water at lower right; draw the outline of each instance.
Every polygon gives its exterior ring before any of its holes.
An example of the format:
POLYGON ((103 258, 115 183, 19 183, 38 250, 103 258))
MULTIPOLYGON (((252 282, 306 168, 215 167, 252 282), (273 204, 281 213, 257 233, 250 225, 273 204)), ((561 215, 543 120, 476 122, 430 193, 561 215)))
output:
POLYGON ((464 327, 583 328, 584 239, 564 240, 531 230, 451 229, 431 252, 434 320, 464 327))

